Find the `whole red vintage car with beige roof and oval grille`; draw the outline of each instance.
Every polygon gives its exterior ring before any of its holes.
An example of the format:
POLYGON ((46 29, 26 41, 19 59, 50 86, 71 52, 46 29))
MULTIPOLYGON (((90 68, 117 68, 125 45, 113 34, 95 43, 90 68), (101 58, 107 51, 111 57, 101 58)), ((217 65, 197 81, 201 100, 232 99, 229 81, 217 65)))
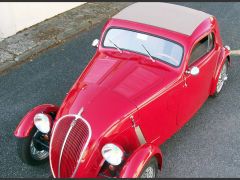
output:
POLYGON ((230 48, 214 16, 135 3, 94 40, 96 54, 62 105, 43 104, 14 134, 21 159, 53 177, 156 177, 160 145, 227 80, 230 48))

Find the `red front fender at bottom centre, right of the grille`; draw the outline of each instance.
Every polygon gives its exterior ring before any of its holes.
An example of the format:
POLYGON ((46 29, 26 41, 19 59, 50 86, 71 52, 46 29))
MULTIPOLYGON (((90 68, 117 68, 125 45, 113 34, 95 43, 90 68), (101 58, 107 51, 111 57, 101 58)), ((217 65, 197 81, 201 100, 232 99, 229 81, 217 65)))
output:
POLYGON ((144 144, 139 147, 127 160, 120 172, 120 178, 137 178, 150 159, 155 156, 158 160, 159 168, 162 167, 161 150, 153 144, 144 144))

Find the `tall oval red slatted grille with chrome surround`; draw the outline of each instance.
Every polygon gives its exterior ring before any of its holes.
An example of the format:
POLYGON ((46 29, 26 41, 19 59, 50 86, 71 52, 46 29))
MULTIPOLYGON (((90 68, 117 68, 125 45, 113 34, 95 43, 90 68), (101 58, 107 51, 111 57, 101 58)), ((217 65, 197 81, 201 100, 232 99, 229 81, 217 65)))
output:
POLYGON ((73 176, 84 151, 84 146, 89 142, 90 131, 90 126, 79 115, 67 115, 58 120, 50 143, 50 163, 55 177, 68 178, 73 176), (64 139, 73 121, 76 123, 70 130, 64 144, 64 139), (62 147, 63 152, 62 157, 60 157, 62 147), (59 162, 60 158, 61 162, 59 162), (60 174, 58 175, 59 168, 60 174))

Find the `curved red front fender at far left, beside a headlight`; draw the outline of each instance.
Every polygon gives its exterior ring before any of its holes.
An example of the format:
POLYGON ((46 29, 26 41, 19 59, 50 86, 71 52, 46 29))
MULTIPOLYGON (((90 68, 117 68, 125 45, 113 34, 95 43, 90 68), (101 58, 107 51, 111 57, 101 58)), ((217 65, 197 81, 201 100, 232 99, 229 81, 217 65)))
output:
POLYGON ((14 131, 14 135, 18 138, 27 137, 30 134, 32 128, 34 127, 33 118, 35 114, 37 113, 48 114, 50 112, 56 113, 58 109, 59 107, 52 104, 42 104, 33 108, 22 118, 21 122, 18 124, 16 130, 14 131))

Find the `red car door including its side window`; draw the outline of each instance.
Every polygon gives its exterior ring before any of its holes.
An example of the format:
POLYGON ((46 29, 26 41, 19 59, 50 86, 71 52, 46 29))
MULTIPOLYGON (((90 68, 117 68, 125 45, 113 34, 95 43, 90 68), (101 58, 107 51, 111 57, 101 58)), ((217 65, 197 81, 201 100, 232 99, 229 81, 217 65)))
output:
POLYGON ((186 123, 206 101, 215 71, 218 51, 215 45, 214 33, 211 32, 197 41, 193 47, 186 73, 183 75, 183 91, 181 94, 181 110, 178 113, 177 124, 186 123), (193 67, 199 69, 199 74, 191 75, 193 67))

